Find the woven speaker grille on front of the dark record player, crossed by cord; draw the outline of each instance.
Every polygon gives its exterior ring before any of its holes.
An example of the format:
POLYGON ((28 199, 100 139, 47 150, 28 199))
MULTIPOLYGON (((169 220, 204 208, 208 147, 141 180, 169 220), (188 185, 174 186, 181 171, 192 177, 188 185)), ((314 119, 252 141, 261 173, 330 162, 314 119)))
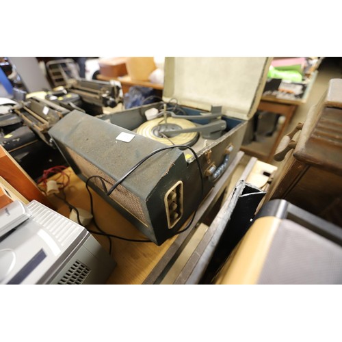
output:
MULTIPOLYGON (((70 148, 66 148, 70 156, 73 158, 73 161, 78 166, 79 170, 81 170, 83 176, 85 176, 87 179, 90 176, 101 176, 103 179, 105 179, 107 182, 107 189, 113 185, 116 180, 111 179, 107 174, 96 168, 94 164, 90 163, 90 161, 84 159, 80 155, 77 155, 73 150, 70 148)), ((101 191, 103 191, 102 183, 100 179, 94 178, 91 181, 99 188, 101 191)), ((122 208, 126 209, 131 213, 137 220, 140 220, 143 224, 146 226, 148 225, 146 222, 146 218, 144 215, 144 211, 142 210, 142 205, 140 204, 139 198, 129 192, 125 187, 122 185, 119 185, 114 192, 112 192, 109 196, 112 200, 115 200, 122 208)))

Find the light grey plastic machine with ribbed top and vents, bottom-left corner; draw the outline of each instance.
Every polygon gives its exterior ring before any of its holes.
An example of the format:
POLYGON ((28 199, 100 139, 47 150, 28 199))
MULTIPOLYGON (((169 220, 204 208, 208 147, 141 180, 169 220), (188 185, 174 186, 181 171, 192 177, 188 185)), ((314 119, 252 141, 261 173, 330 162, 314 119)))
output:
POLYGON ((85 228, 35 200, 17 205, 14 209, 21 210, 21 221, 11 205, 0 211, 1 228, 11 229, 0 237, 1 284, 103 284, 107 280, 116 263, 85 228), (10 225, 4 222, 12 217, 10 225))

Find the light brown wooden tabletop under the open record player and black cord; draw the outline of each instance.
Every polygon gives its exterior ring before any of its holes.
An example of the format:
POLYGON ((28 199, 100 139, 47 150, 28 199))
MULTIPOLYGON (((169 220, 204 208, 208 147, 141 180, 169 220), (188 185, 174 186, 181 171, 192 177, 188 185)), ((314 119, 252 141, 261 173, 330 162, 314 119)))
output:
MULTIPOLYGON (((222 199, 224 190, 228 187, 231 176, 243 155, 243 152, 239 152, 237 157, 232 161, 231 166, 228 167, 228 170, 226 170, 219 181, 215 183, 215 186, 207 198, 202 202, 201 207, 198 208, 196 218, 188 231, 191 231, 199 224, 205 215, 213 209, 215 203, 222 199)), ((67 169, 67 172, 70 174, 70 185, 65 189, 66 200, 75 207, 90 211, 90 198, 86 191, 85 183, 81 181, 70 168, 67 169)), ((55 176, 51 178, 53 179, 54 177, 55 176)), ((101 196, 98 196, 92 189, 91 192, 94 198, 94 212, 98 226, 107 233, 128 237, 130 239, 146 239, 142 233, 137 231, 128 220, 105 202, 101 196)), ((59 213, 68 217, 69 209, 62 200, 55 196, 49 196, 49 199, 53 202, 55 207, 57 207, 59 213)), ((96 227, 92 223, 88 228, 96 231, 96 227)), ((161 257, 168 251, 174 239, 179 236, 181 235, 176 235, 175 237, 168 239, 161 246, 157 246, 153 243, 142 244, 112 239, 113 247, 111 255, 117 262, 117 265, 114 272, 107 280, 107 284, 142 284, 161 257)), ((109 250, 109 241, 106 237, 100 235, 94 235, 94 237, 106 250, 109 250)))

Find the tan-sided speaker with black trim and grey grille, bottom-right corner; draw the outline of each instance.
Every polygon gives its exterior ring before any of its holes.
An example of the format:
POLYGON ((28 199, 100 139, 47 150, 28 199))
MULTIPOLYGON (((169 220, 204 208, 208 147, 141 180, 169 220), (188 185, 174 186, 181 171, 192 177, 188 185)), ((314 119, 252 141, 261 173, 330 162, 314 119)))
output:
POLYGON ((286 200, 271 200, 215 284, 341 284, 342 230, 286 200))

